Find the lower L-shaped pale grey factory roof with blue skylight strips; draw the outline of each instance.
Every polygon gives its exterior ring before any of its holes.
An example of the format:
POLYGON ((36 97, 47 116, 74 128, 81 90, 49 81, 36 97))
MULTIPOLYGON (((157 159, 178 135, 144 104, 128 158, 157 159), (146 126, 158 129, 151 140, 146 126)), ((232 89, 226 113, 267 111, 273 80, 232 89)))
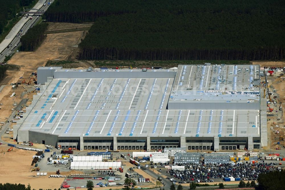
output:
MULTIPOLYGON (((177 75, 182 68, 179 66, 177 75)), ((206 73, 211 73, 211 68, 207 66, 206 73)), ((185 78, 193 78, 195 66, 187 66, 186 70, 191 74, 185 74, 185 78)), ((175 81, 174 78, 54 78, 41 89, 20 130, 59 137, 260 136, 259 110, 167 110, 171 90, 177 91, 177 87, 182 90, 176 85, 180 77, 177 75, 175 81)), ((248 77, 249 74, 243 74, 238 80, 246 78, 244 83, 249 83, 248 77)), ((190 82, 191 86, 193 80, 183 82, 190 82)))

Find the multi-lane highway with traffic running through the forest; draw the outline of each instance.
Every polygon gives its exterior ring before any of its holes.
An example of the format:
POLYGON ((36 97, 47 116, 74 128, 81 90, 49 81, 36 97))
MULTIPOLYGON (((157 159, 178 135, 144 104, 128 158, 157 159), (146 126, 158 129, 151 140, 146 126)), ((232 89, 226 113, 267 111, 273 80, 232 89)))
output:
MULTIPOLYGON (((46 11, 48 9, 48 0, 39 0, 36 5, 33 7, 33 9, 40 9, 42 11, 46 11), (46 3, 46 6, 43 6, 44 3, 46 3)), ((51 0, 50 3, 53 1, 51 0)), ((35 10, 31 10, 30 12, 33 12, 35 10)), ((10 31, 10 33, 5 37, 5 39, 0 43, 0 63, 2 63, 5 59, 5 55, 9 56, 13 54, 13 51, 17 50, 17 47, 20 45, 20 38, 21 36, 25 35, 27 33, 28 29, 33 27, 38 19, 40 18, 40 15, 33 15, 30 14, 29 17, 23 16, 23 18, 15 24, 13 29, 10 31), (32 16, 32 19, 30 17, 32 16), (21 32, 22 30, 22 32, 21 32), (20 34, 20 35, 19 35, 20 34), (17 37, 18 36, 18 37, 17 37), (9 48, 7 48, 9 46, 9 48)))

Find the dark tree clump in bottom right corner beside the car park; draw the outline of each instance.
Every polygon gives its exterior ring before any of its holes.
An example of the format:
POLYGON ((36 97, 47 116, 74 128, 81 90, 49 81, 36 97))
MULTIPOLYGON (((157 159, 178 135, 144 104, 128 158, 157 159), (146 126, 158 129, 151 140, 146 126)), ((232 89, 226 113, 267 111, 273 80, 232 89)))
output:
POLYGON ((257 181, 259 185, 257 186, 258 190, 275 190, 275 189, 284 189, 285 187, 285 171, 274 171, 270 173, 261 173, 257 181))

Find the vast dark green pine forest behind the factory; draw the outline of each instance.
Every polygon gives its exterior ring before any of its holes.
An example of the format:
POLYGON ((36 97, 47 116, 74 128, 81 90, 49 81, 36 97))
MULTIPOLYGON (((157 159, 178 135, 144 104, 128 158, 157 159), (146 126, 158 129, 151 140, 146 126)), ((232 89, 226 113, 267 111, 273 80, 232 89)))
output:
POLYGON ((48 21, 94 21, 79 59, 285 58, 285 1, 56 1, 48 21))

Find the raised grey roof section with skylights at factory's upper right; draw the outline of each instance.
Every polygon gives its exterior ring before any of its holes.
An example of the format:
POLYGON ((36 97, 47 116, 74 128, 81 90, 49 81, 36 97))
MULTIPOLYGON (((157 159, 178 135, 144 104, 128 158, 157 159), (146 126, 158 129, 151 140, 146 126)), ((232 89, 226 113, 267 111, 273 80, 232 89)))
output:
POLYGON ((213 70, 215 67, 179 65, 171 90, 172 98, 169 101, 212 102, 214 100, 229 103, 260 101, 259 86, 254 86, 253 83, 254 80, 259 80, 257 72, 259 65, 217 65, 217 68, 221 68, 220 72, 219 69, 213 70))

